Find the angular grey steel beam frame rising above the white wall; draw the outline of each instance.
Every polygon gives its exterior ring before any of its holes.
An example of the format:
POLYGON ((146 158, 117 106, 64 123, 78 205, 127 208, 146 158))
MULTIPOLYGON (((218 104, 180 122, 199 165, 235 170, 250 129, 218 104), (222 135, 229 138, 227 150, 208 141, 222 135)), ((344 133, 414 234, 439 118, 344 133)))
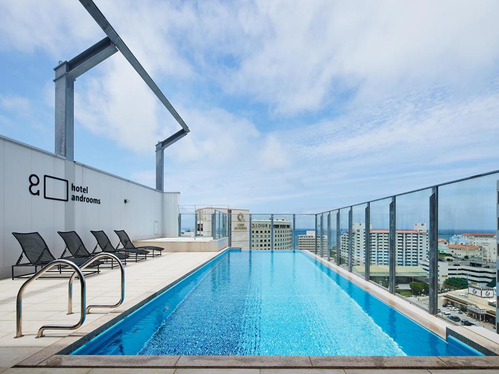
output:
POLYGON ((140 64, 132 51, 121 39, 92 0, 79 0, 87 12, 107 35, 101 41, 81 52, 69 61, 59 61, 55 70, 55 154, 74 161, 74 81, 117 51, 127 59, 142 80, 154 92, 181 130, 156 145, 156 189, 164 190, 164 150, 189 133, 189 127, 177 113, 163 92, 140 64))

